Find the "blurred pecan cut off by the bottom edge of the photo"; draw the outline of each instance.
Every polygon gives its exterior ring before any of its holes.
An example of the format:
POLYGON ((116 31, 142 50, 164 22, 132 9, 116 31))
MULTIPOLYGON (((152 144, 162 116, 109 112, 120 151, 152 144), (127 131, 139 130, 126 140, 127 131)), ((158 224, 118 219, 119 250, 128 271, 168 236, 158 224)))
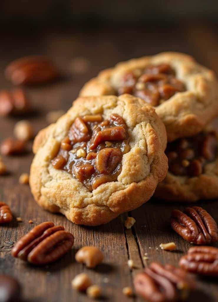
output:
POLYGON ((178 301, 187 297, 195 282, 180 268, 152 262, 135 276, 134 287, 137 294, 149 302, 178 301))

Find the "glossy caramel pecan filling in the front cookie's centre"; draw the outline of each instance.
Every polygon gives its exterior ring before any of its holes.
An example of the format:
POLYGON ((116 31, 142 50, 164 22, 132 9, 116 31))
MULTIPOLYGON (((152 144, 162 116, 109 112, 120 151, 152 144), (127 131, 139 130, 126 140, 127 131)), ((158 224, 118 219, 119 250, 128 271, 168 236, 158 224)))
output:
POLYGON ((55 169, 63 169, 82 182, 89 191, 117 180, 122 156, 129 152, 125 121, 118 114, 103 120, 100 114, 77 117, 52 160, 55 169))

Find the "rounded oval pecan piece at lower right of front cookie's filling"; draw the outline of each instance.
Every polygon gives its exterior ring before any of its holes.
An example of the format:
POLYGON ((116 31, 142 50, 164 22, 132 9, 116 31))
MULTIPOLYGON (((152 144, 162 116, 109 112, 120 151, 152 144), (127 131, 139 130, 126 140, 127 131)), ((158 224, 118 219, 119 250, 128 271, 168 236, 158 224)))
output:
POLYGON ((105 148, 96 156, 96 169, 102 174, 114 171, 122 159, 122 152, 118 148, 105 148))

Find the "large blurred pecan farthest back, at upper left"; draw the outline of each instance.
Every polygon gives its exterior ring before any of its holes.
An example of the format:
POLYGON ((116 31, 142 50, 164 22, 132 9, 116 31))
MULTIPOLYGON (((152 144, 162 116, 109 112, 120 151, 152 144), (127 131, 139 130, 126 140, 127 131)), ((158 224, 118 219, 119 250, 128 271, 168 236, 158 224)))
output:
POLYGON ((57 78, 58 70, 43 56, 27 56, 11 62, 5 69, 5 77, 14 85, 32 85, 57 78))

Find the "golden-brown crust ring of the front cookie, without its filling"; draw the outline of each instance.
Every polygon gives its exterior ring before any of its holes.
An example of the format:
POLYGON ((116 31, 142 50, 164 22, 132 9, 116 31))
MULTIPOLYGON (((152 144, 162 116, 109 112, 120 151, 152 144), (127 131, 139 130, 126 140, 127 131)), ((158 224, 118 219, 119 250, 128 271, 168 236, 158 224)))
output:
MULTIPOLYGON (((93 127, 91 124, 87 125, 93 127)), ((89 131, 92 136, 91 128, 89 131)), ((87 139, 84 140, 90 144, 90 137, 87 139)), ((87 147, 83 148, 89 153, 87 147)), ((33 152, 36 155, 31 165, 30 187, 40 206, 52 212, 60 212, 74 223, 86 225, 107 223, 120 213, 139 207, 152 196, 156 185, 163 180, 167 172, 165 148, 165 127, 153 107, 143 100, 130 95, 81 97, 55 124, 41 130, 36 136, 33 144, 33 152), (113 145, 109 146, 120 148, 122 152, 121 156, 118 152, 119 156, 118 159, 115 158, 115 162, 111 157, 109 160, 109 164, 120 164, 116 179, 90 189, 89 184, 86 186, 84 178, 76 178, 74 173, 69 173, 64 168, 65 166, 56 169, 52 161, 62 152, 61 148, 68 148, 65 144, 70 144, 71 150, 74 150, 75 137, 80 140, 75 131, 83 130, 85 135, 85 128, 81 124, 79 124, 81 127, 75 126, 76 118, 80 117, 84 121, 86 119, 84 116, 96 114, 100 114, 104 121, 110 120, 112 115, 121 117, 125 125, 115 127, 126 127, 127 136, 112 141, 113 145), (74 129, 72 136, 69 136, 70 129, 74 129), (67 136, 70 137, 70 142, 64 141, 62 144, 67 136), (129 145, 128 152, 123 152, 123 139, 128 140, 125 142, 129 145)), ((107 146, 103 150, 106 149, 107 146)), ((95 152, 99 154, 100 150, 96 147, 95 152)), ((65 156, 64 153, 62 155, 65 156)), ((69 160, 69 157, 67 159, 69 160)), ((74 160, 74 157, 72 159, 74 160)), ((96 162, 91 161, 89 164, 95 166, 96 162)), ((111 169, 104 171, 99 168, 99 171, 95 176, 113 173, 111 169)), ((88 181, 92 184, 92 179, 88 178, 88 181)))

